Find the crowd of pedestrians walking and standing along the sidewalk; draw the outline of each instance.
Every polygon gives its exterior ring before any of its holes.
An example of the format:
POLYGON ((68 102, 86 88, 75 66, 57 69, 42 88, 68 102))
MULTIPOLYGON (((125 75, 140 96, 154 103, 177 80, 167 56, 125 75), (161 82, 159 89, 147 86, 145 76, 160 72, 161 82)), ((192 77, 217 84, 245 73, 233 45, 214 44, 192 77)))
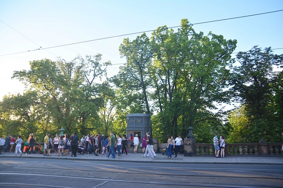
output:
MULTIPOLYGON (((218 158, 220 153, 220 157, 224 158, 225 138, 224 136, 220 136, 220 139, 218 140, 217 136, 218 134, 215 133, 213 138, 215 157, 218 158)), ((4 150, 4 152, 12 152, 12 150, 15 148, 15 156, 17 156, 18 153, 20 153, 20 156, 22 155, 22 135, 19 134, 18 138, 15 137, 15 135, 10 136, 8 134, 6 139, 4 139, 4 136, 1 136, 0 154, 2 154, 2 150, 4 150)), ((174 137, 170 134, 167 135, 167 138, 167 146, 165 148, 167 159, 172 159, 172 154, 175 154, 174 157, 177 157, 177 154, 180 154, 180 148, 181 145, 183 145, 183 139, 180 135, 174 139, 174 137)), ((153 139, 149 133, 139 139, 138 134, 136 134, 134 137, 132 132, 130 132, 129 139, 125 134, 121 136, 119 134, 115 135, 113 132, 110 133, 110 137, 108 135, 104 136, 101 133, 87 133, 86 136, 82 135, 80 138, 77 136, 77 132, 72 134, 70 138, 68 134, 61 135, 60 137, 58 134, 55 134, 55 137, 53 138, 52 134, 46 133, 46 136, 44 137, 43 155, 51 156, 50 152, 53 149, 54 155, 57 156, 71 155, 72 157, 77 157, 77 152, 94 154, 95 156, 98 156, 98 154, 102 153, 102 155, 107 154, 107 158, 116 158, 117 154, 118 157, 121 157, 124 153, 125 156, 128 156, 128 140, 133 141, 132 146, 134 146, 134 154, 137 153, 138 146, 140 146, 140 148, 142 148, 142 153, 144 154, 143 157, 150 157, 152 159, 156 157, 156 154, 153 150, 153 139), (70 150, 71 154, 69 153, 70 150)), ((28 155, 30 151, 31 155, 33 156, 35 152, 35 139, 33 134, 29 135, 29 138, 25 142, 23 149, 23 152, 26 155, 28 155)))

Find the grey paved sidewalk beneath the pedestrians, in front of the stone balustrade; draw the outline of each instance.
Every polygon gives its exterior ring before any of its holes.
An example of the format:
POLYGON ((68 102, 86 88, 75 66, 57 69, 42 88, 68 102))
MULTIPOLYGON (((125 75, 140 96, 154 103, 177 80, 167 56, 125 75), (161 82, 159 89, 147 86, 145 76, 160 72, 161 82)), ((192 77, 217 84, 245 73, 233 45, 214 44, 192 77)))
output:
MULTIPOLYGON (((37 159, 69 159, 69 160, 95 160, 95 161, 122 161, 122 162, 140 162, 140 163, 178 163, 178 164, 245 164, 245 165, 283 165, 283 156, 226 156, 225 158, 215 158, 214 156, 193 156, 193 157, 184 157, 184 154, 178 155, 177 158, 167 159, 167 155, 162 155, 161 153, 157 154, 157 157, 150 159, 149 157, 143 158, 142 153, 128 153, 126 157, 125 154, 122 157, 116 155, 115 159, 106 158, 106 155, 98 154, 95 156, 93 154, 77 154, 77 157, 60 156, 54 155, 52 153, 51 157, 43 156, 43 154, 31 154, 22 156, 14 156, 15 153, 12 152, 2 152, 1 157, 8 158, 37 158, 37 159)), ((175 155, 173 155, 175 156, 175 155)))

